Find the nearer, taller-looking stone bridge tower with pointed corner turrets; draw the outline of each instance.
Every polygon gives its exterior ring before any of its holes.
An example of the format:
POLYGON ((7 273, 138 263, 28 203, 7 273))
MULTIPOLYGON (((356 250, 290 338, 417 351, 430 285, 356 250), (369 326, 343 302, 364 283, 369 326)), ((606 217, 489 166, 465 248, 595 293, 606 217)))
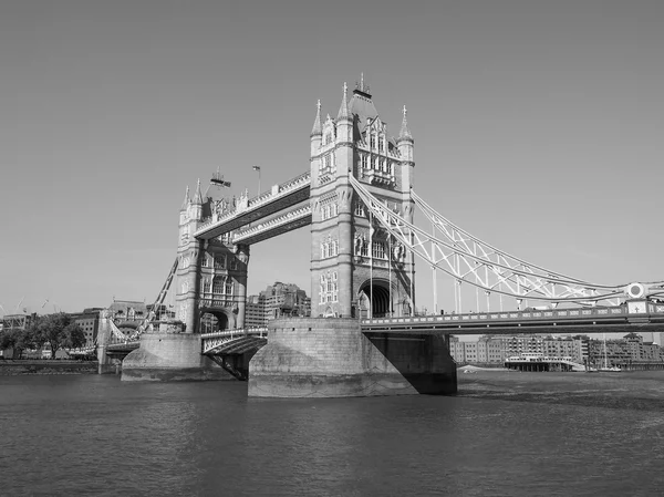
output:
POLYGON ((404 107, 397 138, 388 137, 361 77, 349 101, 344 83, 336 118, 311 131, 311 315, 408 315, 414 309, 414 259, 373 221, 349 175, 408 220, 415 168, 404 107))

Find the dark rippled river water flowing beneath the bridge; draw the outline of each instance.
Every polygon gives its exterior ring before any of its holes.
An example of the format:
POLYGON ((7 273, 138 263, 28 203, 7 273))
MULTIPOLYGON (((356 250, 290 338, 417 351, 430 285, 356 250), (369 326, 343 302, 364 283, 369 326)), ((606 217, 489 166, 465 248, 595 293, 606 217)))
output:
POLYGON ((664 495, 664 372, 459 374, 459 395, 0 376, 2 496, 664 495))

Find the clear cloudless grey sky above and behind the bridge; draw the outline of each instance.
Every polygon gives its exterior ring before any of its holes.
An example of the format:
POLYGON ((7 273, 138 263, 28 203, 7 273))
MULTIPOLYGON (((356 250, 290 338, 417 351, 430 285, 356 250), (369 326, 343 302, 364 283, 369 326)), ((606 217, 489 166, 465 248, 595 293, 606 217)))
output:
MULTIPOLYGON (((394 135, 407 106, 439 213, 577 278, 662 280, 663 25, 658 0, 4 0, 0 304, 154 300, 186 185, 305 172, 317 100, 336 115, 361 72, 394 135)), ((309 293, 309 237, 253 246, 249 293, 309 293)))

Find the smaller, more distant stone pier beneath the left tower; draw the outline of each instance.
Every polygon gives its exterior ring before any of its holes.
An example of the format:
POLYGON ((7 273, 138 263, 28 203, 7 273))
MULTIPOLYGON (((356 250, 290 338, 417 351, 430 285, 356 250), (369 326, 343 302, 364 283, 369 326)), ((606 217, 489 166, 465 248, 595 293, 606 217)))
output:
POLYGON ((200 354, 200 335, 144 333, 141 346, 122 362, 124 382, 180 382, 235 380, 226 370, 200 354))

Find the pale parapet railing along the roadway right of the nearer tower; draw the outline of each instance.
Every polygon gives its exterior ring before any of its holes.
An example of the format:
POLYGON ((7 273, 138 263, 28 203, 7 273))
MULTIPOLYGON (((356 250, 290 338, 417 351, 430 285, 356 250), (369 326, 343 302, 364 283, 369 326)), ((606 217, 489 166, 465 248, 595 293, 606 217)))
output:
MULTIPOLYGON (((642 314, 663 314, 664 304, 647 303, 642 314)), ((616 306, 608 308, 582 308, 582 309, 549 309, 549 310, 523 310, 523 311, 507 311, 507 312, 477 312, 468 314, 433 314, 405 318, 376 318, 363 319, 362 324, 409 324, 409 323, 473 323, 483 321, 538 321, 538 320, 574 320, 574 319, 592 319, 592 318, 612 318, 634 315, 630 312, 626 306, 616 306)), ((637 315, 637 314, 636 314, 637 315)))

